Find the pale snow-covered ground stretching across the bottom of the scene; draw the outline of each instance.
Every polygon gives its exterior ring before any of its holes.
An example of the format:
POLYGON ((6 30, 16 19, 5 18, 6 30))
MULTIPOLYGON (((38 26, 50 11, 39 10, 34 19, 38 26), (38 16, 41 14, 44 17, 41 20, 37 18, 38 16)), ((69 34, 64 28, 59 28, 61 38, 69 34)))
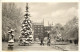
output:
MULTIPOLYGON (((9 51, 8 43, 2 43, 2 50, 9 51)), ((67 44, 67 45, 51 45, 41 46, 37 43, 32 44, 31 46, 19 46, 18 42, 14 43, 14 48, 10 51, 78 51, 78 46, 74 44, 67 44)))

